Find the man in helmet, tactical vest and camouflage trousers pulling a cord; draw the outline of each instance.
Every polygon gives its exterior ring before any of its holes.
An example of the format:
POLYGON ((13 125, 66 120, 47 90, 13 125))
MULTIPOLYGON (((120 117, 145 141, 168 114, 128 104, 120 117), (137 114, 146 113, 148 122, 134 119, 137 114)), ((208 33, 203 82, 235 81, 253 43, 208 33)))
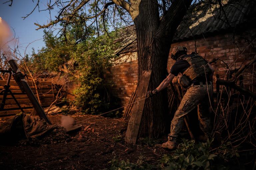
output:
POLYGON ((171 52, 171 58, 176 60, 166 79, 153 91, 148 91, 147 96, 153 96, 165 89, 175 76, 179 73, 178 83, 187 88, 181 103, 174 114, 171 122, 171 132, 168 134, 168 141, 162 144, 163 148, 176 149, 176 139, 180 132, 184 116, 198 107, 198 119, 200 128, 206 137, 211 132, 209 103, 212 97, 212 75, 213 67, 200 55, 187 55, 187 48, 175 46, 171 52))

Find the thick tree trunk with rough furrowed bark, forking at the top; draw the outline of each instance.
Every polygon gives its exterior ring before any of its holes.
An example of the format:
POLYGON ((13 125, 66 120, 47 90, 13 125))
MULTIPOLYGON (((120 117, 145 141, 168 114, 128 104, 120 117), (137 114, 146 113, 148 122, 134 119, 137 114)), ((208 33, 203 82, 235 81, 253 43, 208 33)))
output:
MULTIPOLYGON (((176 0, 169 9, 171 11, 168 10, 166 18, 164 16, 161 21, 156 0, 139 2, 139 12, 134 18, 138 49, 138 82, 140 82, 143 70, 152 70, 148 90, 155 89, 167 76, 171 41, 191 3, 191 0, 187 1, 185 4, 184 1, 176 0)), ((146 99, 140 136, 155 138, 164 132, 169 132, 168 125, 171 120, 168 115, 167 101, 166 90, 146 99)))

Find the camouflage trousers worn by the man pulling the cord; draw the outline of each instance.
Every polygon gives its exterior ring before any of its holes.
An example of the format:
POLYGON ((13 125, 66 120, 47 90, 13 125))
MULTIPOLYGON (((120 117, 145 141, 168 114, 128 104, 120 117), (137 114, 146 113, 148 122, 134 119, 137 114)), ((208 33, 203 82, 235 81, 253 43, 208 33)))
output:
POLYGON ((171 133, 168 134, 170 141, 176 142, 178 133, 182 128, 184 116, 190 113, 194 108, 197 109, 199 125, 202 131, 208 136, 211 132, 210 125, 210 102, 209 96, 212 97, 212 85, 195 85, 190 86, 181 100, 181 103, 174 114, 171 123, 171 133))

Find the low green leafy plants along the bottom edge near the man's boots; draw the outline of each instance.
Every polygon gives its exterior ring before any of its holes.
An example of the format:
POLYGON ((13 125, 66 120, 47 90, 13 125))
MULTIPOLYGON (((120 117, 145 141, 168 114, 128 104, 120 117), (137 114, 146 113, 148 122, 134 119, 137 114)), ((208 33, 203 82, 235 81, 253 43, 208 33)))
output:
MULTIPOLYGON (((221 154, 210 153, 210 146, 212 140, 208 140, 205 143, 195 143, 195 140, 185 140, 179 145, 178 149, 170 152, 170 154, 163 155, 158 160, 157 165, 152 165, 144 161, 142 156, 139 157, 136 163, 131 163, 129 160, 117 160, 113 159, 111 163, 111 170, 141 170, 141 169, 166 169, 166 170, 210 170, 210 169, 228 169, 227 162, 224 161, 226 157, 221 154)), ((226 148, 225 152, 230 155, 232 149, 229 146, 223 144, 226 148)), ((223 149, 223 148, 220 148, 223 149)), ((233 158, 229 157, 229 160, 233 158)))

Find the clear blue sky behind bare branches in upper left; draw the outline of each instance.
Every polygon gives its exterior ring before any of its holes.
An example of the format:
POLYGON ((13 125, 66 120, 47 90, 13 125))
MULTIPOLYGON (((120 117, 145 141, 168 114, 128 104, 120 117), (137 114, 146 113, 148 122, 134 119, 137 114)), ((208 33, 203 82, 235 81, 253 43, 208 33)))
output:
MULTIPOLYGON (((10 27, 15 31, 16 37, 19 37, 20 51, 24 53, 26 46, 31 43, 26 53, 31 53, 32 47, 35 48, 37 52, 44 45, 43 42, 43 30, 36 30, 37 26, 34 23, 39 23, 40 25, 46 24, 49 21, 49 12, 41 11, 38 12, 38 8, 25 20, 23 18, 26 14, 29 14, 35 7, 37 1, 34 0, 13 0, 13 4, 10 7, 9 2, 3 4, 7 0, 0 1, 0 17, 5 20, 10 27)), ((47 2, 47 1, 45 1, 47 2)), ((45 9, 44 4, 40 4, 40 10, 45 9)), ((52 17, 55 16, 57 12, 51 11, 52 17)))

